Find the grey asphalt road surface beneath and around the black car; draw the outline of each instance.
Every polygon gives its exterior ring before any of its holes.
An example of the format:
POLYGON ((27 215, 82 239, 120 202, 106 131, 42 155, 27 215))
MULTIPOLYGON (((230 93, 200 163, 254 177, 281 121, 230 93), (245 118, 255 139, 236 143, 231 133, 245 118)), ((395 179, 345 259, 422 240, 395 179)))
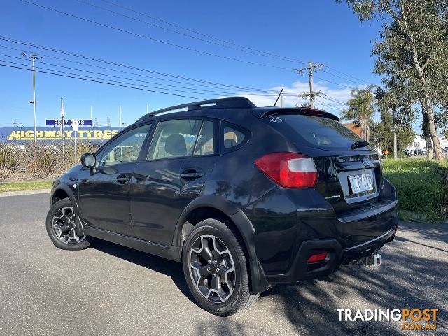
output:
POLYGON ((218 318, 193 302, 181 265, 99 241, 62 251, 48 239, 48 195, 0 197, 0 335, 395 335, 400 322, 338 321, 336 309, 438 308, 448 335, 448 225, 400 223, 379 269, 263 293, 218 318))

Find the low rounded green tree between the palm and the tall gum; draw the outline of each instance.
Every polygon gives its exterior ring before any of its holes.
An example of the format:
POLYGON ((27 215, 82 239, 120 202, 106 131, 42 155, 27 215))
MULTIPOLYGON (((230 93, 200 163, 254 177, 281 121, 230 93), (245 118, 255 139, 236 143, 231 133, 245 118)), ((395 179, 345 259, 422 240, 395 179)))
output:
POLYGON ((381 123, 372 126, 371 139, 381 148, 382 151, 387 149, 393 153, 393 127, 397 133, 397 152, 402 153, 403 149, 412 144, 415 133, 412 126, 405 120, 395 118, 391 111, 381 111, 381 123), (395 125, 394 125, 395 123, 395 125))

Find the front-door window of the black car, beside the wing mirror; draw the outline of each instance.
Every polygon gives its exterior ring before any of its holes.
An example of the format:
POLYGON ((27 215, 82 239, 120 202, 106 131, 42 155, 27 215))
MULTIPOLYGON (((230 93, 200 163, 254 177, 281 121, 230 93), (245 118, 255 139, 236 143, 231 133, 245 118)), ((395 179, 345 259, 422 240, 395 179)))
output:
POLYGON ((109 166, 137 161, 141 146, 143 146, 150 129, 151 125, 144 125, 125 134, 120 134, 106 146, 101 165, 109 166))

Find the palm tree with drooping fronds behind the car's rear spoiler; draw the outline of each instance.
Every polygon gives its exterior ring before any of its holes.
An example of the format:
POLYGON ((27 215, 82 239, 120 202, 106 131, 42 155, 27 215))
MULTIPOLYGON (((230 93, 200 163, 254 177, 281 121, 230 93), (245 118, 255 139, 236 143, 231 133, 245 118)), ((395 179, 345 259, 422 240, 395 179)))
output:
POLYGON ((342 120, 350 120, 360 127, 360 137, 369 141, 370 125, 372 124, 375 112, 374 96, 372 90, 375 85, 370 85, 366 89, 351 90, 351 99, 347 101, 349 109, 341 111, 339 116, 342 120))

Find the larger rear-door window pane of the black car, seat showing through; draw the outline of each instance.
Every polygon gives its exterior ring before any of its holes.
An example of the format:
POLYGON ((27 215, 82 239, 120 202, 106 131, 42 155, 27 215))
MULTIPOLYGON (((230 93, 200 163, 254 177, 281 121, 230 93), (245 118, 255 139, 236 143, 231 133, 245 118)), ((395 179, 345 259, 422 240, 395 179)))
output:
POLYGON ((167 120, 159 123, 151 141, 148 160, 193 155, 202 120, 167 120))

